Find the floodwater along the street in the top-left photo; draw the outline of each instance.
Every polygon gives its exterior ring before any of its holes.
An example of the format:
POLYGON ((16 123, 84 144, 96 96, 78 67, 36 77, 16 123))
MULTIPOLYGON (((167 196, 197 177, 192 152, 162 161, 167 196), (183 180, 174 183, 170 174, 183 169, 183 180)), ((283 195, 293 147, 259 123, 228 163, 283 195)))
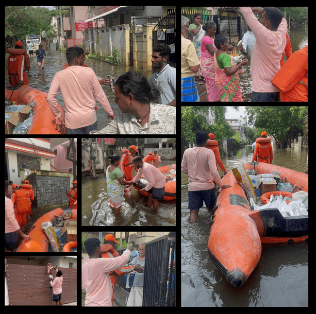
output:
MULTIPOLYGON (((38 71, 38 66, 37 66, 37 58, 36 56, 33 56, 33 58, 30 58, 31 60, 31 68, 30 70, 30 76, 28 76, 29 79, 29 85, 37 88, 39 90, 45 91, 46 93, 49 92, 50 90, 50 84, 51 81, 55 75, 56 72, 63 70, 65 64, 67 64, 67 59, 66 59, 66 51, 45 51, 46 52, 46 57, 45 57, 45 65, 44 69, 45 72, 40 70, 38 71)), ((5 53, 4 56, 4 64, 5 64, 5 70, 4 70, 4 75, 5 75, 5 85, 9 85, 9 77, 8 77, 8 53, 5 53)), ((87 65, 88 67, 92 68, 97 76, 100 76, 102 78, 105 78, 106 75, 112 75, 114 79, 116 80, 121 74, 126 73, 128 71, 137 71, 143 73, 147 78, 150 77, 152 74, 152 71, 149 72, 143 72, 140 69, 132 68, 129 66, 124 66, 124 65, 113 65, 108 62, 100 61, 97 59, 93 58, 85 58, 84 64, 87 65)), ((119 112, 118 106, 114 103, 115 96, 111 90, 111 88, 107 85, 101 85, 102 89, 104 90, 104 93, 106 97, 109 100, 109 103, 113 109, 113 112, 115 115, 119 112)), ((57 95, 57 101, 59 102, 60 105, 64 106, 64 101, 61 92, 58 93, 57 95)), ((102 129, 107 125, 107 114, 97 101, 97 122, 98 122, 98 129, 102 129)))

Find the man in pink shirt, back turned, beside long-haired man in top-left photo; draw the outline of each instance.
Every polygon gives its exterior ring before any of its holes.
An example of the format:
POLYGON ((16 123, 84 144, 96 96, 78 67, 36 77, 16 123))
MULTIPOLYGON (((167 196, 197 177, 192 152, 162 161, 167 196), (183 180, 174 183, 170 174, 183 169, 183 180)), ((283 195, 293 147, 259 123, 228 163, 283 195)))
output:
POLYGON ((100 86, 95 72, 83 67, 84 51, 80 47, 70 47, 66 56, 69 67, 57 72, 51 82, 47 101, 55 116, 56 129, 66 124, 67 134, 89 134, 97 130, 96 97, 108 114, 108 121, 115 115, 100 86), (65 105, 65 121, 57 107, 57 94, 61 91, 65 105))

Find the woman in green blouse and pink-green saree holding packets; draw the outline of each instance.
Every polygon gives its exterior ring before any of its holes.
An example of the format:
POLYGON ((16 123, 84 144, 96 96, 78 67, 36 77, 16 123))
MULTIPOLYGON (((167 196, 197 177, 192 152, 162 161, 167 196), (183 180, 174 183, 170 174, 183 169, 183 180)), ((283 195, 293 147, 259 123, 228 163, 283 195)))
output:
POLYGON ((240 91, 239 74, 242 73, 241 66, 248 63, 248 59, 243 59, 237 66, 233 64, 233 59, 226 53, 232 50, 228 38, 225 35, 215 37, 215 83, 220 94, 221 102, 243 102, 240 91))

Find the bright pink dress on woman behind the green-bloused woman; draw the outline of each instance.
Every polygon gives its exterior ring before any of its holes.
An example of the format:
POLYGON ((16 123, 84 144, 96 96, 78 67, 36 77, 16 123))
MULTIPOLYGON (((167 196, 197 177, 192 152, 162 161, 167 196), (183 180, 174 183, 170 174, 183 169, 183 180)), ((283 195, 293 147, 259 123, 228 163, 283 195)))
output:
POLYGON ((201 41, 201 72, 205 78, 205 86, 207 90, 207 101, 214 102, 220 99, 218 89, 215 84, 215 67, 214 67, 214 57, 208 52, 205 45, 212 44, 214 49, 214 40, 208 35, 205 35, 201 41))

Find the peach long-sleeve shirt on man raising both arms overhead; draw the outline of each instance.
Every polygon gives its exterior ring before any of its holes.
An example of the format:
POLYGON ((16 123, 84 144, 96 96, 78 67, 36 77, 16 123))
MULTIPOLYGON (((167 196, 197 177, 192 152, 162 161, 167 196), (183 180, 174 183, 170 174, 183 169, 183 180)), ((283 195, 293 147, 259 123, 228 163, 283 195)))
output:
POLYGON ((280 70, 280 60, 286 46, 287 22, 284 18, 277 31, 270 31, 252 13, 250 7, 240 7, 256 42, 251 53, 250 74, 252 91, 273 93, 280 91, 271 80, 280 70))

